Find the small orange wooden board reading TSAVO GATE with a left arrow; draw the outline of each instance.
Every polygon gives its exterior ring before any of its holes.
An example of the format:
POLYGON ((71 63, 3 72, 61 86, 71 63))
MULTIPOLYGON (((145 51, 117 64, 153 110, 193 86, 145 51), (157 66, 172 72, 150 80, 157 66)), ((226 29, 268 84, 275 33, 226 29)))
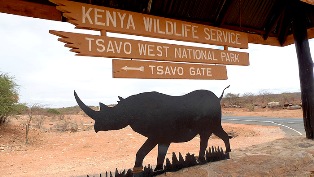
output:
POLYGON ((114 78, 226 80, 226 66, 112 60, 114 78))

